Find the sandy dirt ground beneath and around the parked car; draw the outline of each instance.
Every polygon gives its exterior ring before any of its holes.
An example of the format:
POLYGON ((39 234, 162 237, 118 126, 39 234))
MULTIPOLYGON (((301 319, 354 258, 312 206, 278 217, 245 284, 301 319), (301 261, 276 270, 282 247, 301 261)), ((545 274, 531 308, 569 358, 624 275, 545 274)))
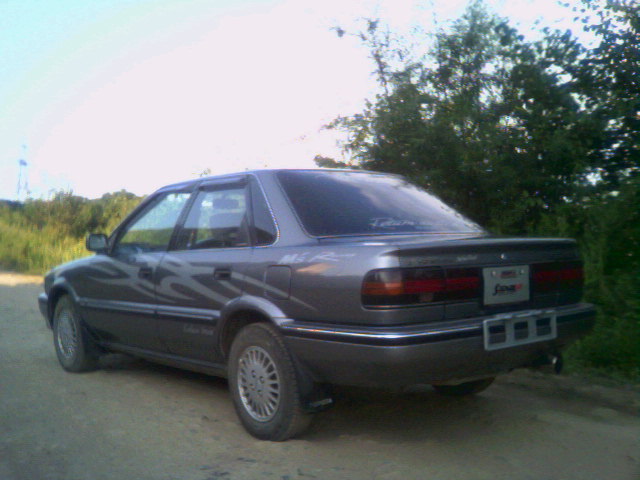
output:
POLYGON ((300 439, 262 442, 225 381, 120 356, 59 366, 38 279, 0 275, 0 479, 636 479, 640 394, 514 373, 475 398, 338 390, 300 439))

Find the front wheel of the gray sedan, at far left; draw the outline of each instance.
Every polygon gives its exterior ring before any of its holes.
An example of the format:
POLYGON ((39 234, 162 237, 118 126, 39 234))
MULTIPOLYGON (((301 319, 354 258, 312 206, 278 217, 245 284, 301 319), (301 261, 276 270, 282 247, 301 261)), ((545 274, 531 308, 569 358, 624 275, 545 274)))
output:
POLYGON ((62 368, 88 372, 98 366, 98 355, 69 295, 60 297, 53 313, 53 344, 62 368))

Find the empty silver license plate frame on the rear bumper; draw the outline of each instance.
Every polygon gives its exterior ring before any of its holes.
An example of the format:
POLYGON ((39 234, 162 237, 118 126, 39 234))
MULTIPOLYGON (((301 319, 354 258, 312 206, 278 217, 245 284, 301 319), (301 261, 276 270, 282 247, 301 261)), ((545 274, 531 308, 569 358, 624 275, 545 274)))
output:
POLYGON ((553 311, 498 315, 485 320, 482 326, 485 350, 517 347, 557 337, 553 311))

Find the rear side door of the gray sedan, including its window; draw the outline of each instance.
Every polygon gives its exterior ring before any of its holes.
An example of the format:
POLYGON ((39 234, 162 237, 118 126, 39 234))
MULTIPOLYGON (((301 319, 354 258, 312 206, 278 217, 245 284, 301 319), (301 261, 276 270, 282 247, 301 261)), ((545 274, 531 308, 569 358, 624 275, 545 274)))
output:
POLYGON ((172 354, 219 362, 220 311, 242 295, 251 258, 247 182, 203 183, 194 195, 175 248, 158 267, 159 331, 172 354))

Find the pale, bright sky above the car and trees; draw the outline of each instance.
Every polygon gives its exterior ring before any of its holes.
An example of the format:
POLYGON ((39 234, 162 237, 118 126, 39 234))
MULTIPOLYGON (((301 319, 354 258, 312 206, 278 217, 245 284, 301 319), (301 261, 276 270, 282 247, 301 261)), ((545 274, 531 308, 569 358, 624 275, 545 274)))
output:
MULTIPOLYGON (((536 20, 572 26, 556 0, 486 3, 525 34, 536 20)), ((466 4, 0 0, 0 198, 24 199, 25 180, 34 198, 144 195, 206 169, 341 159, 340 134, 322 127, 376 86, 367 51, 331 27, 380 17, 429 31, 466 4)))

